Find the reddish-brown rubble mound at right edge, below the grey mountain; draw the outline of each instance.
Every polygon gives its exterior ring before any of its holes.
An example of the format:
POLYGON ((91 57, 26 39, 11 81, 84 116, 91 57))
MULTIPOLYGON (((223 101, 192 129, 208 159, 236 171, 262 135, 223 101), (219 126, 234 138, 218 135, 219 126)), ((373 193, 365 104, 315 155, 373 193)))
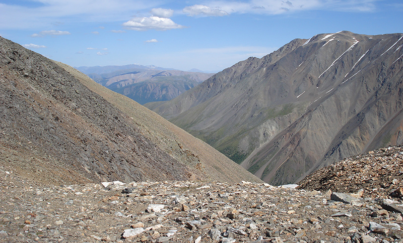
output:
POLYGON ((355 193, 362 189, 364 197, 390 195, 402 198, 399 191, 403 181, 401 168, 403 148, 381 148, 319 169, 300 181, 299 189, 345 193, 355 193))

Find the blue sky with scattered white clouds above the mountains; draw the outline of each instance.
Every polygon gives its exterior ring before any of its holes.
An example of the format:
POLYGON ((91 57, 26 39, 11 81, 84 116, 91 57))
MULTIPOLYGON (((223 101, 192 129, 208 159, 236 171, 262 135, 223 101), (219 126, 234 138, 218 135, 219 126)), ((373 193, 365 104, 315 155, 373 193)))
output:
POLYGON ((0 36, 71 66, 221 71, 320 33, 403 32, 401 0, 0 0, 0 36))

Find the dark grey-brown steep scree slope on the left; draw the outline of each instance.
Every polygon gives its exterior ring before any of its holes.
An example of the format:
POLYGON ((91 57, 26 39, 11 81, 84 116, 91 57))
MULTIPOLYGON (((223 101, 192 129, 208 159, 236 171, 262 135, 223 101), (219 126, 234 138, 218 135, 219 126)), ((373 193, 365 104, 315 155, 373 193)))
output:
MULTIPOLYGON (((4 38, 0 110, 0 164, 41 183, 232 176, 217 170, 210 176, 187 148, 180 150, 188 159, 178 161, 145 137, 133 118, 69 72, 4 38)), ((171 153, 180 154, 179 147, 171 153)))

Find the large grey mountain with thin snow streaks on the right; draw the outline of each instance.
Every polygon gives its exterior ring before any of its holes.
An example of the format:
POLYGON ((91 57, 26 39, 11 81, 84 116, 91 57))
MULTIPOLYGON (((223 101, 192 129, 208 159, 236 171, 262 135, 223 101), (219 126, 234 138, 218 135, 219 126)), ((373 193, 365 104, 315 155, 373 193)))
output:
POLYGON ((403 142, 403 35, 295 39, 146 104, 273 185, 403 142))

